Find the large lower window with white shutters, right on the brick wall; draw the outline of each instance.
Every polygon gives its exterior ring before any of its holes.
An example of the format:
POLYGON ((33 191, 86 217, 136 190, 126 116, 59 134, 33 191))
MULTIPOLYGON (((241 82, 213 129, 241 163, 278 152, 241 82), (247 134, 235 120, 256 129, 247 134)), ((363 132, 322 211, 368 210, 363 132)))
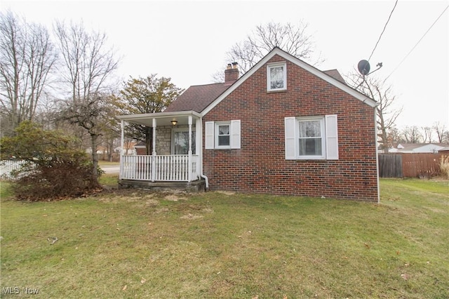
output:
POLYGON ((337 115, 286 117, 286 159, 338 159, 337 115))

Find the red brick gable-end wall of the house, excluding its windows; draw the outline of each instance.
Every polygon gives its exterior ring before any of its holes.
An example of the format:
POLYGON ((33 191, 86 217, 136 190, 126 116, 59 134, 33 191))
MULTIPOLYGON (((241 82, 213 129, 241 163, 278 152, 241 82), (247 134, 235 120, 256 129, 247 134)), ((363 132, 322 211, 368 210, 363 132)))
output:
POLYGON ((203 150, 210 189, 377 201, 374 108, 291 62, 287 91, 267 93, 266 76, 261 67, 203 117, 241 120, 240 150, 203 150), (286 160, 284 117, 325 114, 338 116, 339 159, 286 160))

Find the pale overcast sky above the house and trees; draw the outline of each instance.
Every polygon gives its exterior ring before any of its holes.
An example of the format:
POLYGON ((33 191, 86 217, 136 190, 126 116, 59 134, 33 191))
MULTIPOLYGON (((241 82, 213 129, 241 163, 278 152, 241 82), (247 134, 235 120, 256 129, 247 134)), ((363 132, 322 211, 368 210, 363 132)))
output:
MULTIPOLYGON (((55 20, 82 21, 87 29, 107 34, 121 57, 117 74, 123 80, 157 74, 188 88, 213 83, 213 74, 224 72, 230 62, 225 53, 267 22, 306 22, 316 56, 325 59, 315 67, 349 74, 370 57, 394 4, 395 0, 1 0, 0 11, 10 9, 48 29, 55 20)), ((449 128, 448 6, 447 0, 399 0, 370 59, 371 70, 378 62, 383 65, 370 76, 387 79, 396 95, 395 108, 403 109, 398 128, 432 126, 436 121, 449 128)))

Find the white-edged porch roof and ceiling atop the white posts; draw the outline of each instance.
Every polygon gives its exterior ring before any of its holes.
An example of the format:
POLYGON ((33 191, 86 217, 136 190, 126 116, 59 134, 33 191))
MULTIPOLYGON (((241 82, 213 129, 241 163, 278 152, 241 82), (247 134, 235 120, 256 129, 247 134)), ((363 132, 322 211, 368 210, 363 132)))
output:
POLYGON ((189 124, 189 116, 192 116, 194 119, 201 118, 201 114, 195 111, 118 115, 116 118, 129 123, 152 127, 153 119, 156 119, 156 126, 171 126, 173 119, 177 121, 177 125, 189 124))

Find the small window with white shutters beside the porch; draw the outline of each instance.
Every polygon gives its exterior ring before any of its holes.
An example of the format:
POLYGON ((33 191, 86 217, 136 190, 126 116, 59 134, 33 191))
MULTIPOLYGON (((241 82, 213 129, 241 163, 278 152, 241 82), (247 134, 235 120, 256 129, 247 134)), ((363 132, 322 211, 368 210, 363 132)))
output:
POLYGON ((206 150, 240 148, 240 120, 206 121, 205 130, 206 150))

